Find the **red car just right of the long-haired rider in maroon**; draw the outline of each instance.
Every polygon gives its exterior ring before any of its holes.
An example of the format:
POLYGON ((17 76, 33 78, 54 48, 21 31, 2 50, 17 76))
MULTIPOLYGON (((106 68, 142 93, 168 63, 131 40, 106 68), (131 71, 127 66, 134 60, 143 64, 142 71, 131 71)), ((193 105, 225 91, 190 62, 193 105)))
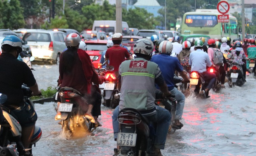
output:
POLYGON ((98 69, 101 66, 100 58, 101 58, 101 51, 107 50, 107 40, 88 40, 85 41, 87 46, 87 54, 90 55, 91 60, 94 56, 99 56, 99 59, 93 61, 92 64, 94 65, 95 69, 98 69))

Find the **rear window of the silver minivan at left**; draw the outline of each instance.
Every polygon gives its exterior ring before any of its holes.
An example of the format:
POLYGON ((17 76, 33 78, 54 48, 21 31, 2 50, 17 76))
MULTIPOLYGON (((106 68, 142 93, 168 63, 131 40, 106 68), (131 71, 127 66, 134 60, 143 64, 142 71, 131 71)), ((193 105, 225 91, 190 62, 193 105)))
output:
POLYGON ((35 42, 51 42, 51 35, 49 33, 26 33, 23 37, 24 41, 35 42))

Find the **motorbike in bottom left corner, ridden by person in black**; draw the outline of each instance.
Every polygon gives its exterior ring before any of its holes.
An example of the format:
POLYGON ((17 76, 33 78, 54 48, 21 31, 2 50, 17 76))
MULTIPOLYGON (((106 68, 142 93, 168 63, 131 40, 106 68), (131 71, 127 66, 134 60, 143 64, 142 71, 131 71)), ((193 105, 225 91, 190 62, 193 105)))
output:
MULTIPOLYGON (((26 85, 22 86, 24 92, 24 100, 34 108, 33 102, 29 99, 31 97, 31 91, 26 85)), ((4 105, 7 96, 0 93, 0 107, 3 112, 4 121, 0 124, 0 156, 19 156, 24 155, 26 151, 30 151, 32 154, 32 145, 35 146, 41 138, 41 128, 35 125, 35 132, 32 137, 29 149, 25 149, 21 142, 22 127, 15 118, 15 115, 11 110, 4 105)))

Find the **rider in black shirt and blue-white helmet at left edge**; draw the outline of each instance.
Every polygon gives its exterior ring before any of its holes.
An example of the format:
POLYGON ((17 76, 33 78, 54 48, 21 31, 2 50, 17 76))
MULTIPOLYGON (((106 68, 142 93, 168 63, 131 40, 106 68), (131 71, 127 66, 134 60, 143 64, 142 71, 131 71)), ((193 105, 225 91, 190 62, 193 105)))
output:
MULTIPOLYGON (((24 148, 29 148, 35 130, 37 114, 32 106, 24 102, 22 84, 26 84, 32 95, 39 95, 38 85, 34 75, 26 63, 17 60, 22 52, 22 41, 15 35, 8 35, 2 41, 0 55, 0 93, 7 95, 2 105, 9 108, 17 116, 22 127, 21 141, 24 148)), ((27 151, 26 155, 30 155, 27 151)))

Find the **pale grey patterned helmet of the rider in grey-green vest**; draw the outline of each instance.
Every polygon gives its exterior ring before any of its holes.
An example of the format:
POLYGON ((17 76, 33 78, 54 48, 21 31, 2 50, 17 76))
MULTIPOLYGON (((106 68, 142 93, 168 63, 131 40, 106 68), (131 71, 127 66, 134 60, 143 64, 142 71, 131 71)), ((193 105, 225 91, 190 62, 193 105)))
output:
POLYGON ((133 50, 135 55, 136 53, 151 55, 153 48, 154 48, 153 42, 147 38, 143 38, 135 42, 133 50))

